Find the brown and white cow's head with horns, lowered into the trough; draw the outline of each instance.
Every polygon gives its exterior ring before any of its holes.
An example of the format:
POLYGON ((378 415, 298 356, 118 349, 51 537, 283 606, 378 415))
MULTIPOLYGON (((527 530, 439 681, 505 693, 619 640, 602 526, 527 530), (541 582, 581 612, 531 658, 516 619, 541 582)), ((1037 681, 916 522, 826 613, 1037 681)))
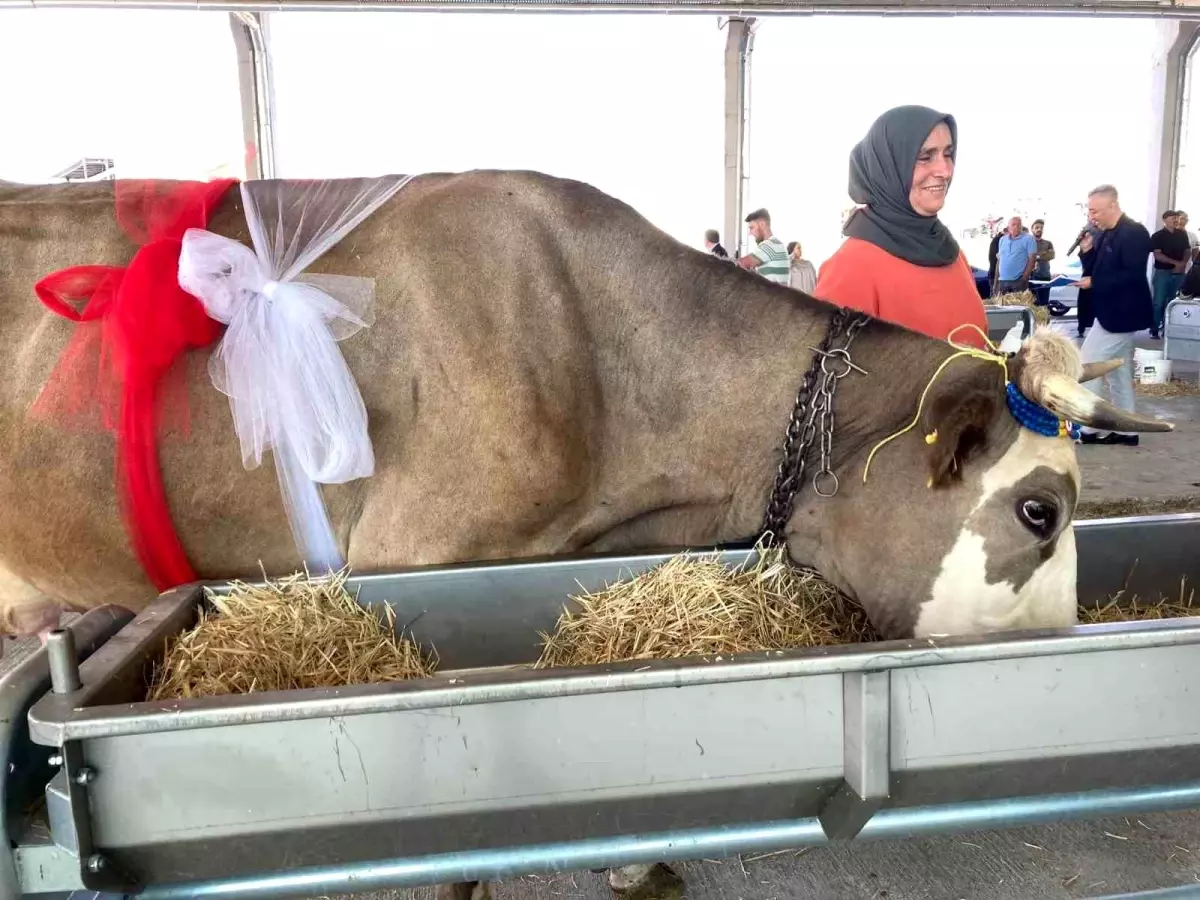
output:
MULTIPOLYGON (((1007 371, 1026 398, 1074 422, 1169 431, 1082 386, 1118 365, 1085 367, 1068 338, 1039 329, 1007 371)), ((798 499, 788 528, 794 559, 858 599, 886 637, 1076 623, 1074 444, 1018 422, 996 362, 949 364, 918 426, 877 452, 864 481, 868 454, 883 437, 864 436, 842 463, 835 498, 798 499)))

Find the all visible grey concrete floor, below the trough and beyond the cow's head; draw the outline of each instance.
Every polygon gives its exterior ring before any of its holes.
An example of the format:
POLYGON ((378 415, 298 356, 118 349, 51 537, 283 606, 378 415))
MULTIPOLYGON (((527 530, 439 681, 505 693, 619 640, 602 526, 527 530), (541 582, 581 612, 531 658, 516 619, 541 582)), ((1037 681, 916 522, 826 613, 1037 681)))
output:
MULTIPOLYGON (((1140 402, 1178 430, 1144 436, 1136 449, 1079 448, 1082 504, 1136 499, 1152 509, 1200 509, 1200 396, 1140 402)), ((29 649, 10 648, 0 668, 29 649)), ((1200 810, 680 863, 676 870, 689 900, 1068 900, 1183 884, 1195 884, 1200 896, 1200 810)), ((358 896, 432 900, 433 889, 358 896)), ((497 886, 496 898, 612 894, 604 876, 574 872, 515 878, 497 886)))

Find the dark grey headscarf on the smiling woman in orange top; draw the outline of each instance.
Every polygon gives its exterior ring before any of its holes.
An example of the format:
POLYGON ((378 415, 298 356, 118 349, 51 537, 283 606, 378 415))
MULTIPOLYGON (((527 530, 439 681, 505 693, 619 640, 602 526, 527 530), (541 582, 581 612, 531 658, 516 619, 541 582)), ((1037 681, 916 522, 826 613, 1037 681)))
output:
POLYGON ((955 148, 959 127, 953 115, 928 107, 896 107, 871 125, 850 154, 850 198, 865 204, 847 221, 842 234, 882 247, 914 265, 950 265, 959 245, 937 216, 922 216, 908 202, 912 169, 925 138, 946 122, 955 148))

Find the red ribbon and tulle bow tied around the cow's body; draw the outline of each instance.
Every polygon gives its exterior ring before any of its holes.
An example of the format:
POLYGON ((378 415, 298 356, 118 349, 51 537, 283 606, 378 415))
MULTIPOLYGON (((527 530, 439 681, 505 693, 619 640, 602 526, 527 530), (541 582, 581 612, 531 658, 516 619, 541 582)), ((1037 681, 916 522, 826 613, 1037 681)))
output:
MULTIPOLYGON (((80 265, 34 286, 50 311, 79 323, 34 404, 41 418, 95 420, 116 434, 116 493, 142 568, 158 590, 196 581, 175 533, 158 467, 162 412, 184 416, 186 385, 163 409, 163 379, 182 355, 221 334, 204 306, 179 287, 179 253, 188 228, 236 181, 118 181, 116 220, 139 250, 121 269, 80 265), (77 310, 72 301, 82 301, 77 310)), ((185 370, 179 370, 185 374, 185 370)))

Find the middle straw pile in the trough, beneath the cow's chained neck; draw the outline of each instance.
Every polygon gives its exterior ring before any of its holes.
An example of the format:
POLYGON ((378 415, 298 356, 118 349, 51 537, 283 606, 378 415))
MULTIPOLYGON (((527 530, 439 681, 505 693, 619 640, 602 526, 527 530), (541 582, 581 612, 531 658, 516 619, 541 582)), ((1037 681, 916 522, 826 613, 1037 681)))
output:
POLYGON ((572 598, 538 668, 620 660, 718 658, 737 653, 875 641, 866 614, 782 550, 749 566, 715 554, 680 554, 604 590, 572 598))

